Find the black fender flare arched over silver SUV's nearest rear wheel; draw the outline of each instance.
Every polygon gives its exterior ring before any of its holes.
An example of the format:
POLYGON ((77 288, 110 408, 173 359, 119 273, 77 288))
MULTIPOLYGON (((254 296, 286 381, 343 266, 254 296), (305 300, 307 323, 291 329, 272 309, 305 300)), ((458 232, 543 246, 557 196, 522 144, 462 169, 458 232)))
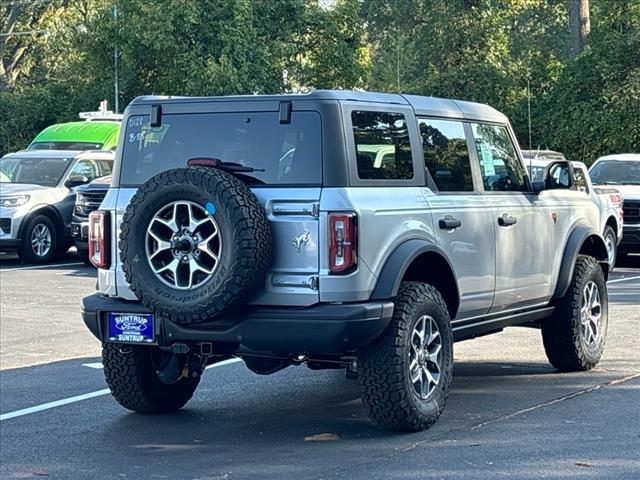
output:
MULTIPOLYGON (((447 262, 449 269, 454 272, 446 254, 436 245, 425 240, 407 240, 398 245, 385 261, 371 294, 371 300, 386 300, 395 297, 400 289, 402 277, 404 277, 411 263, 423 253, 437 253, 447 262)), ((456 280, 456 288, 458 288, 457 283, 456 280)), ((459 291, 458 289, 458 293, 459 291)))

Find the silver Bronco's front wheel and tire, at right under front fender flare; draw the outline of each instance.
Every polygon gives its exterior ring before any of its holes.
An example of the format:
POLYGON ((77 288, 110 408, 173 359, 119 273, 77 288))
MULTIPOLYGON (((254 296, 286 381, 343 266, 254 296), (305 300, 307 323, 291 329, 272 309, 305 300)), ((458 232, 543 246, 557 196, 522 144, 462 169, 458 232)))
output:
POLYGON ((567 293, 554 315, 542 323, 549 362, 564 372, 593 368, 604 351, 607 324, 604 273, 595 258, 579 255, 567 293))

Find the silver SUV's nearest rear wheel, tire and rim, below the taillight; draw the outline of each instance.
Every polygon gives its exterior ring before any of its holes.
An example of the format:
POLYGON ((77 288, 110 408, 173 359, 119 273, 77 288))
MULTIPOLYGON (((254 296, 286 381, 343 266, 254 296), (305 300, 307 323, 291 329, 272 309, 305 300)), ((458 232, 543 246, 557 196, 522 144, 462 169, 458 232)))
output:
POLYGON ((358 356, 358 375, 375 423, 416 432, 436 422, 453 377, 453 332, 438 290, 402 283, 391 323, 358 356))

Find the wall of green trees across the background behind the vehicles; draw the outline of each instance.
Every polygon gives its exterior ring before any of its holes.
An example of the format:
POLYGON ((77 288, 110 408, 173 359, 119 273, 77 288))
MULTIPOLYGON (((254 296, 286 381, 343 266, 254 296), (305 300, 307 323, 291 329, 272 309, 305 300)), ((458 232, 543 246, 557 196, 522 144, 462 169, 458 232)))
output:
POLYGON ((143 94, 400 91, 490 104, 509 116, 528 147, 529 85, 533 148, 590 162, 640 145, 637 0, 592 0, 592 32, 577 58, 570 52, 567 0, 44 5, 23 7, 18 24, 45 28, 48 36, 9 37, 6 44, 11 58, 20 41, 29 55, 0 94, 0 154, 100 100, 113 106, 116 48, 121 106, 143 94))

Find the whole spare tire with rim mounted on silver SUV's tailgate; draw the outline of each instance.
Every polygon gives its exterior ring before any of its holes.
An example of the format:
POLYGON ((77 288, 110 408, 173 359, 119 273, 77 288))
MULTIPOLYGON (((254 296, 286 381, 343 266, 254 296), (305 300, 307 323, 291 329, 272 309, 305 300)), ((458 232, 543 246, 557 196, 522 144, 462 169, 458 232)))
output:
POLYGON ((200 323, 264 284, 271 238, 262 207, 241 180, 217 168, 178 168, 152 177, 132 198, 120 257, 147 308, 200 323))

